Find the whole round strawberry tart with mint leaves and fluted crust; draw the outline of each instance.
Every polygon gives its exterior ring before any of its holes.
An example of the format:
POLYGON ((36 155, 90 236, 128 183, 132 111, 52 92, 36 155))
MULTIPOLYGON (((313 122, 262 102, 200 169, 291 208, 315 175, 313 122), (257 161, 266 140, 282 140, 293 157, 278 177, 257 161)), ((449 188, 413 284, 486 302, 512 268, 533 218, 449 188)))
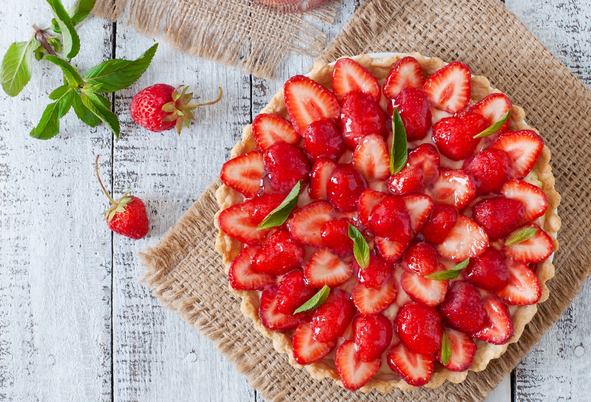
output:
POLYGON ((317 62, 222 167, 216 249, 254 327, 349 390, 459 383, 548 297, 560 195, 524 111, 459 61, 317 62))

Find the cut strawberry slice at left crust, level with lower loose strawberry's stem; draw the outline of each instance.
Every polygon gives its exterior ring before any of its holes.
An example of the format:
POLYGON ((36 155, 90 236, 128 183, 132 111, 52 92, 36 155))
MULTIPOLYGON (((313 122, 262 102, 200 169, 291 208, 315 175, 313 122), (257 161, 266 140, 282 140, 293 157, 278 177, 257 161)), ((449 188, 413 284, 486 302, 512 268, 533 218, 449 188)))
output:
POLYGON ((256 197, 261 189, 261 180, 265 175, 262 153, 252 151, 230 159, 222 165, 220 179, 230 188, 244 197, 256 197))

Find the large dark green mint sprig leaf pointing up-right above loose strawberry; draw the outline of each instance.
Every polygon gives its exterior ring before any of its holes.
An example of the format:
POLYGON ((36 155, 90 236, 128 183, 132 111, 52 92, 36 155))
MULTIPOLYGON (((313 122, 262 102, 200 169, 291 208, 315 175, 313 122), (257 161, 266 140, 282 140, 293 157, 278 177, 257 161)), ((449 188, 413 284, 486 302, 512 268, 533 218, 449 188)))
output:
POLYGON ((136 60, 115 59, 100 63, 88 71, 86 83, 97 92, 114 92, 124 89, 141 77, 150 66, 158 48, 155 44, 136 60))

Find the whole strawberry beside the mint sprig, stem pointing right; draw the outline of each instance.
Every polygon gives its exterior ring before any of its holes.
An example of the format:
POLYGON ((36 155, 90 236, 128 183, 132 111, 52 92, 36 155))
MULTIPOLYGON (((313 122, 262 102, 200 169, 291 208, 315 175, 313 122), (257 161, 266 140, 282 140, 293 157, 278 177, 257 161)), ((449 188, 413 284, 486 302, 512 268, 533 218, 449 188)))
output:
POLYGON ((131 118, 143 128, 155 133, 170 130, 174 126, 180 134, 184 125, 189 127, 189 120, 195 117, 191 110, 197 106, 214 104, 222 99, 222 89, 216 100, 207 103, 189 104, 193 93, 187 93, 189 87, 184 87, 178 92, 181 86, 173 87, 167 84, 154 84, 142 89, 131 100, 131 118))

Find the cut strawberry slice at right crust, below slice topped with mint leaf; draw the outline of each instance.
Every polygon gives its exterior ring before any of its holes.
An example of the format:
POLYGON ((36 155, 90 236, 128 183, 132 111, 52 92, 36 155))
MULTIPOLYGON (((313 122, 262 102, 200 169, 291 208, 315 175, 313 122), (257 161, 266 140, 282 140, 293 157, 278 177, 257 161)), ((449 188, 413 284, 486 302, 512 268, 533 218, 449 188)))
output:
POLYGON ((509 269, 509 284, 496 294, 505 302, 527 306, 537 303, 542 296, 540 280, 535 273, 522 262, 506 259, 509 269))

